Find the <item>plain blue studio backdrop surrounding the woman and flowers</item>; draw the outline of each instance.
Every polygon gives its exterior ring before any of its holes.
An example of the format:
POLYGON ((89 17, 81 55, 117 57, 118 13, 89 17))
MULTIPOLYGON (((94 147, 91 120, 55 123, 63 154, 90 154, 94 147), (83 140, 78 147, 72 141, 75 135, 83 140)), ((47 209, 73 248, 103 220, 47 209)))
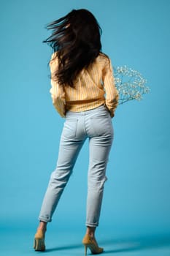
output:
MULTIPOLYGON (((142 102, 120 105, 113 119, 98 240, 109 255, 170 255, 169 0, 1 1, 0 255, 34 254, 64 121, 51 102, 52 50, 42 40, 47 23, 79 8, 98 19, 112 64, 138 70, 151 89, 142 102)), ((88 142, 49 225, 51 255, 83 253, 87 169, 88 142)))

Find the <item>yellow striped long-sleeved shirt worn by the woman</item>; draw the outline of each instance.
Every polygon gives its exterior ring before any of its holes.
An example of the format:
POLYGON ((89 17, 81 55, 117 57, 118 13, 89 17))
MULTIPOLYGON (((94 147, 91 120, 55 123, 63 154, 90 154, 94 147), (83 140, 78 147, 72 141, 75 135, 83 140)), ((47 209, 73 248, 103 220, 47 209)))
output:
MULTIPOLYGON (((82 69, 80 74, 77 75, 77 79, 74 80, 73 87, 69 85, 60 86, 53 80, 53 74, 58 69, 57 53, 52 56, 50 69, 52 73, 50 93, 55 107, 58 105, 58 99, 59 101, 63 99, 66 110, 73 112, 90 110, 104 104, 109 110, 115 110, 117 100, 115 105, 113 99, 117 99, 118 94, 112 75, 111 61, 104 53, 99 53, 88 69, 82 69)), ((60 110, 61 105, 60 109, 56 109, 63 116, 60 110)))

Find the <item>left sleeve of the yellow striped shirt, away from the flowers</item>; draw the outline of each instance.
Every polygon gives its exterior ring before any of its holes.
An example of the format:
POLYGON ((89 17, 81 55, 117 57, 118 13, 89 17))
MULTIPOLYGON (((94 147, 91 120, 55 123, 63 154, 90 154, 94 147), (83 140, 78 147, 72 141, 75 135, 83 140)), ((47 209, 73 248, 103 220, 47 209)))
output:
POLYGON ((54 72, 58 67, 58 59, 54 58, 54 54, 52 55, 50 61, 50 72, 51 72, 51 89, 50 94, 53 100, 53 105, 58 113, 62 116, 66 116, 66 99, 65 99, 65 91, 63 86, 60 86, 56 80, 54 80, 54 72))

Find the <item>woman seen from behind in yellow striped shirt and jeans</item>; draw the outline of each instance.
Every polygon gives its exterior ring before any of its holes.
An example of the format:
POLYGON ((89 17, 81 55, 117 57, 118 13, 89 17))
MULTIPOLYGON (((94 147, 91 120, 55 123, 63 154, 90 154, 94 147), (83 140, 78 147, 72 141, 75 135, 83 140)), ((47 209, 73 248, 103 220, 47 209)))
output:
POLYGON ((118 104, 112 64, 101 53, 101 29, 88 10, 72 10, 47 26, 53 34, 44 42, 54 53, 50 60, 50 93, 58 113, 66 118, 55 171, 42 203, 34 249, 45 250, 45 231, 58 200, 72 174, 83 143, 89 139, 87 230, 82 244, 93 254, 103 252, 95 238, 109 151, 112 146, 112 117, 118 104))

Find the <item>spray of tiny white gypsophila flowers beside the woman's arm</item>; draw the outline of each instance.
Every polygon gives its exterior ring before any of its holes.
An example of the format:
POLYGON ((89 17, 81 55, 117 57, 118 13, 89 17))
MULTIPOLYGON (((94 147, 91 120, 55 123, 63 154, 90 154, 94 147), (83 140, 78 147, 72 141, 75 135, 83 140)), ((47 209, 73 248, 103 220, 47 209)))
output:
POLYGON ((141 100, 143 94, 150 92, 150 88, 146 86, 147 80, 142 75, 126 66, 113 67, 115 86, 119 92, 119 105, 129 100, 141 100))

